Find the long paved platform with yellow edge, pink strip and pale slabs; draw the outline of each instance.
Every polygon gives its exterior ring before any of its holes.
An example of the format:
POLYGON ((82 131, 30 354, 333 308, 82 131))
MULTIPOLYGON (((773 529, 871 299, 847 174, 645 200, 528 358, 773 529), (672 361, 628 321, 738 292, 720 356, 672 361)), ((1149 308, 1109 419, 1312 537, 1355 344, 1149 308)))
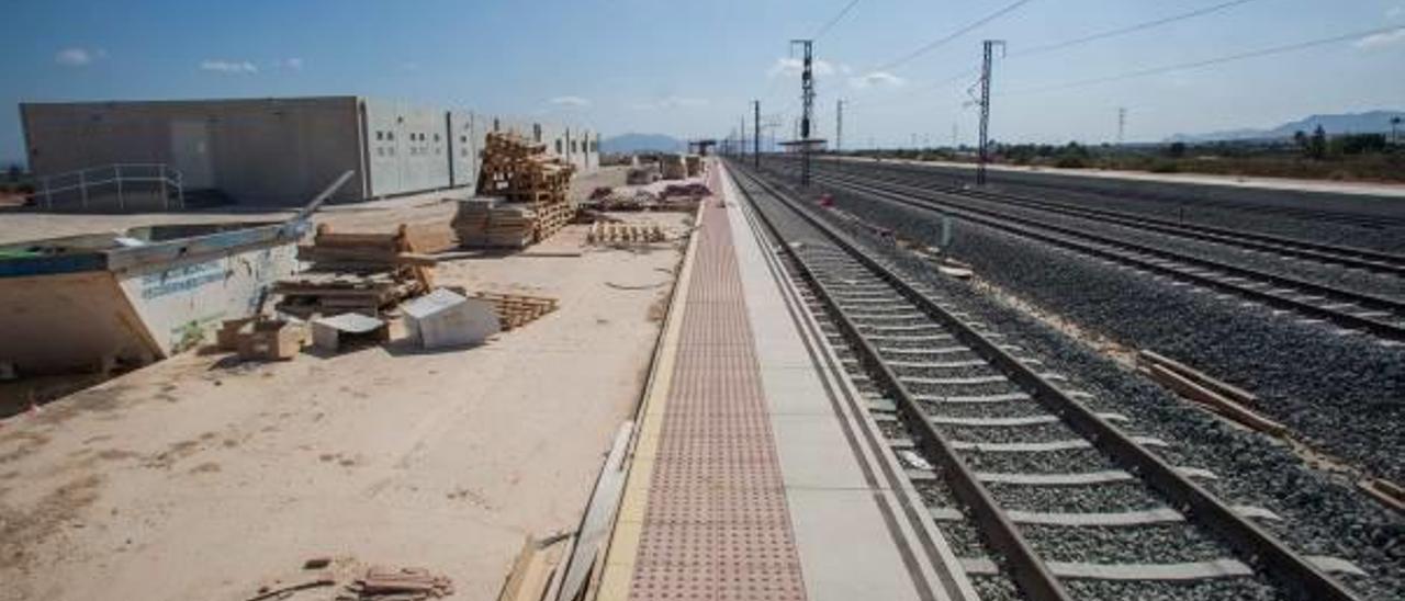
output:
POLYGON ((773 242, 711 167, 596 598, 975 598, 773 242))

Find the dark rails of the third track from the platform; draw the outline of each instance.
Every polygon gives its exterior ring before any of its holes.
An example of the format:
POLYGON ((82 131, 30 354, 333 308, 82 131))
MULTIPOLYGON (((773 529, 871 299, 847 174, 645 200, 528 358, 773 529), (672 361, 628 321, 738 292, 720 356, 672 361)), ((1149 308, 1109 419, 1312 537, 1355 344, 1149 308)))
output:
MULTIPOLYGON (((917 188, 924 185, 927 178, 940 178, 937 174, 920 174, 909 170, 882 169, 884 176, 865 176, 870 181, 882 181, 891 185, 917 188)), ((850 169, 836 169, 835 173, 854 174, 850 169)), ((1270 236, 1256 232, 1245 232, 1229 227, 1215 227, 1198 223, 1177 223, 1169 219, 1159 219, 1144 215, 1134 215, 1124 211, 1097 209, 1087 206, 1073 206, 1058 201, 1030 198, 1013 192, 996 192, 989 190, 967 190, 955 185, 940 188, 919 188, 933 192, 955 194, 988 199, 992 202, 1006 202, 1034 211, 1045 211, 1058 215, 1071 215, 1082 219, 1094 219, 1125 227, 1137 227, 1170 236, 1189 237, 1194 240, 1214 242, 1241 249, 1277 253, 1297 258, 1308 258, 1321 263, 1335 263, 1346 267, 1356 267, 1377 272, 1405 275, 1405 256, 1378 253, 1367 249, 1353 249, 1338 244, 1319 244, 1305 240, 1295 240, 1283 236, 1270 236)))

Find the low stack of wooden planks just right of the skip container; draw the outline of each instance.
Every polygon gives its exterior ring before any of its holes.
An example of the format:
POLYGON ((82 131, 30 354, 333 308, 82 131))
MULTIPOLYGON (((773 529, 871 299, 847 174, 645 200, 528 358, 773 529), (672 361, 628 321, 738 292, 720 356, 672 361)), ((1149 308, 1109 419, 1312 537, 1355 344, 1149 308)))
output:
POLYGON ((278 281, 278 310, 309 319, 362 313, 372 317, 402 300, 434 288, 433 257, 414 253, 406 227, 395 233, 334 233, 318 227, 313 244, 299 246, 298 258, 308 271, 278 281))

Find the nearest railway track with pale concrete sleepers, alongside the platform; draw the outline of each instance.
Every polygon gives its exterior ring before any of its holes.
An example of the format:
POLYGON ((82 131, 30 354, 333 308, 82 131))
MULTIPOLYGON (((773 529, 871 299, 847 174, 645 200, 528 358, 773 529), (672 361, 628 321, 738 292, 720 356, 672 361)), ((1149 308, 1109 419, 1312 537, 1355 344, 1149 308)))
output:
POLYGON ((1197 482, 1215 475, 1127 434, 1131 417, 1096 410, 1068 378, 780 190, 746 173, 738 184, 933 520, 948 538, 969 528, 984 541, 957 545, 967 573, 1009 579, 1034 600, 1236 598, 1266 587, 1356 598, 1329 576, 1363 576, 1354 566, 1294 552, 1256 524, 1274 515, 1218 500, 1197 482), (1107 583, 1121 588, 1093 593, 1107 583))

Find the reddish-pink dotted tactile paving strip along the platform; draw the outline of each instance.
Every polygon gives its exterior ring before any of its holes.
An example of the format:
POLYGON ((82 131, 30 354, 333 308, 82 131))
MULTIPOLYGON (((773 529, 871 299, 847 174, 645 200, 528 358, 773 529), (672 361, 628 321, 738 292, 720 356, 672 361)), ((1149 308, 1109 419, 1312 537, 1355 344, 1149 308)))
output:
POLYGON ((702 211, 636 601, 805 600, 726 211, 702 211))

